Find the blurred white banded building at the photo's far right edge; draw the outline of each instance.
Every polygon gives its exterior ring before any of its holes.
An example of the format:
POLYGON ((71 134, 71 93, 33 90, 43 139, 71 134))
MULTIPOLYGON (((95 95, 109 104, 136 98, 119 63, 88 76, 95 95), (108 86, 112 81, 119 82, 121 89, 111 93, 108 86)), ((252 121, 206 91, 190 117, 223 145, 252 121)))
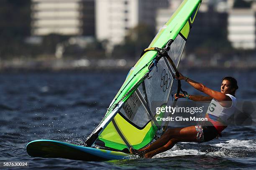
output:
POLYGON ((256 47, 256 18, 252 9, 233 9, 228 14, 228 40, 234 48, 256 47))

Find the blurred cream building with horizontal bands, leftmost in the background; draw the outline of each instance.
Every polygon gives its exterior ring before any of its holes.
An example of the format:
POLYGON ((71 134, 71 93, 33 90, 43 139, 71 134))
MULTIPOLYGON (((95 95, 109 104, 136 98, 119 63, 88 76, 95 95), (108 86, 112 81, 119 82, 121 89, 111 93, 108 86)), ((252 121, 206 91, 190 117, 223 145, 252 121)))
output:
POLYGON ((81 0, 32 0, 31 34, 82 34, 81 0))

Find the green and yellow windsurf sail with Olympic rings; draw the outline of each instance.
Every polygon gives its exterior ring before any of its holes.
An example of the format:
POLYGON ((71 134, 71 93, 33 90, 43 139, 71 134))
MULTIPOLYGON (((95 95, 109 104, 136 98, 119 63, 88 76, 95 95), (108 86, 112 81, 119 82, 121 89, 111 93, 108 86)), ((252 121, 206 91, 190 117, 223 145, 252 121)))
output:
POLYGON ((172 91, 179 93, 180 81, 174 78, 201 2, 184 0, 159 30, 87 138, 87 146, 129 152, 129 148, 143 148, 161 135, 166 123, 159 117, 165 112, 156 114, 156 107, 165 107, 172 91), (172 88, 174 81, 177 89, 172 88))

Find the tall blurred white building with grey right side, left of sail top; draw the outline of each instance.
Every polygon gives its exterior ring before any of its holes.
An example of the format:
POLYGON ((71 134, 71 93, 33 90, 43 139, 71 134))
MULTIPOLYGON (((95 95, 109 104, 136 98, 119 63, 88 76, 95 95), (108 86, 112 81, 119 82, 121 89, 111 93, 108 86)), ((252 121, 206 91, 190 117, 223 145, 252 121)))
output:
POLYGON ((127 31, 139 23, 155 27, 157 7, 168 0, 96 0, 96 37, 108 40, 108 49, 123 42, 127 31))

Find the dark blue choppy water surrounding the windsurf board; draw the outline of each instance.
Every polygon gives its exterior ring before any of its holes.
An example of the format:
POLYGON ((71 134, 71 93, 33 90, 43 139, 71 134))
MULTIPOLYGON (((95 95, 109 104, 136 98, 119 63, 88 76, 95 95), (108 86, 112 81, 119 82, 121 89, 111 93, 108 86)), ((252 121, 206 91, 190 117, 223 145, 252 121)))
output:
MULTIPOLYGON (((220 89, 221 78, 238 79, 237 97, 256 100, 256 71, 189 70, 184 75, 220 89)), ((256 169, 256 127, 228 127, 223 138, 178 143, 153 159, 85 162, 32 158, 31 140, 83 142, 98 125, 127 71, 15 72, 0 74, 0 162, 27 162, 27 169, 256 169)), ((183 82, 184 84, 184 82, 183 82)), ((184 84, 189 94, 198 93, 184 84)), ((17 169, 17 168, 13 168, 17 169)))

